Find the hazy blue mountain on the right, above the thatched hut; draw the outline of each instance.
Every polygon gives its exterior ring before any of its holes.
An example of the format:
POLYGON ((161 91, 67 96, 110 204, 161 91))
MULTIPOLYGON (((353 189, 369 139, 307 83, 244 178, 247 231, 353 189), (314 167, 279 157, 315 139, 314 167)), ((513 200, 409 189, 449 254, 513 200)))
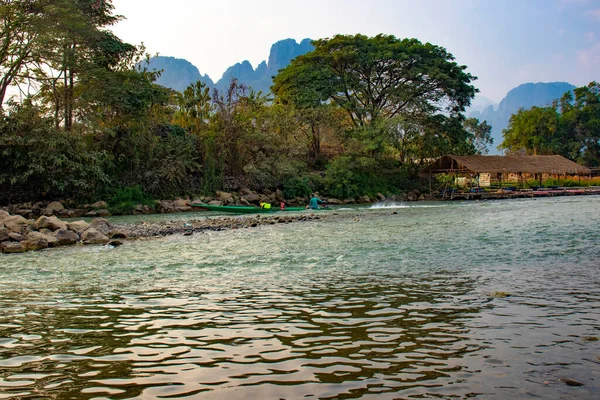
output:
POLYGON ((545 107, 556 99, 560 99, 565 92, 575 89, 575 86, 567 82, 549 83, 524 83, 507 93, 497 107, 487 106, 483 110, 471 110, 467 113, 469 117, 487 121, 492 126, 492 138, 494 143, 490 154, 498 154, 496 147, 502 143, 502 130, 508 126, 511 115, 519 108, 545 107))

